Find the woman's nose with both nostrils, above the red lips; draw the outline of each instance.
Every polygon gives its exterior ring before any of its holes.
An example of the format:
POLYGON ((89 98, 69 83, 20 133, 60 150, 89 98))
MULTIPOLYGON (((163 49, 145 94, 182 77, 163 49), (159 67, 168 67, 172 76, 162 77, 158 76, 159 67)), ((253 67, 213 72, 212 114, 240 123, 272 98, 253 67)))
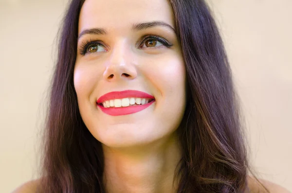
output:
POLYGON ((103 77, 107 81, 134 79, 137 70, 130 47, 124 42, 116 45, 111 51, 103 77))

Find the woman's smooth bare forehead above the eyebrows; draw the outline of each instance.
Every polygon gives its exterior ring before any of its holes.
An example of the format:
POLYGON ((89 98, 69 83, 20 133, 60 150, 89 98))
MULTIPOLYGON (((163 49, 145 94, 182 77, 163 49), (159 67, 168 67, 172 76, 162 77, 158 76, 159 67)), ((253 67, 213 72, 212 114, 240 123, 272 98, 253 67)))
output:
POLYGON ((99 27, 111 30, 130 29, 134 23, 164 21, 174 27, 172 7, 168 0, 85 0, 78 33, 99 27))

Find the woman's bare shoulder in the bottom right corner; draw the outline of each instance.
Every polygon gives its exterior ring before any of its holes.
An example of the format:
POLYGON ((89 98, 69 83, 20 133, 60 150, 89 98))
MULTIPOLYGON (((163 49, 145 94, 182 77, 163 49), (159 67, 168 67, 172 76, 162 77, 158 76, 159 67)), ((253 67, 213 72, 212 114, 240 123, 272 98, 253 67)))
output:
MULTIPOLYGON (((258 179, 270 193, 291 193, 284 187, 274 184, 268 180, 258 179)), ((249 176, 248 178, 248 187, 251 190, 251 193, 267 193, 267 191, 262 188, 262 186, 256 181, 254 177, 249 176)))

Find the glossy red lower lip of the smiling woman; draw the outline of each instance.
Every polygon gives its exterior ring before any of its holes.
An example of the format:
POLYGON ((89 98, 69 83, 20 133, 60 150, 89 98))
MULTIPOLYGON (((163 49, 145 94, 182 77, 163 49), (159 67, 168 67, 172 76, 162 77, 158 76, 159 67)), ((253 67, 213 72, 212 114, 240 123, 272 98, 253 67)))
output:
POLYGON ((139 112, 148 106, 152 105, 155 101, 151 101, 150 103, 147 103, 145 105, 136 105, 136 106, 127 106, 127 107, 103 107, 101 105, 97 105, 99 108, 101 108, 102 112, 111 115, 111 116, 119 116, 119 115, 128 115, 132 113, 139 112))

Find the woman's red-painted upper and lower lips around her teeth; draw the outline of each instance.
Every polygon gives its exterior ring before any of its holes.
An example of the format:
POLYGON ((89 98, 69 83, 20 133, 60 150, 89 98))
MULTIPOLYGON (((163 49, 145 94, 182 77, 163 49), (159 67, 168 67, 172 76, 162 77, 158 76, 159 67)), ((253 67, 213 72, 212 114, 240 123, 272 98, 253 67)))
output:
POLYGON ((109 92, 105 95, 102 95, 97 101, 97 106, 106 114, 111 116, 119 116, 119 115, 128 115, 132 113, 139 112, 148 106, 152 105, 155 102, 155 98, 152 95, 149 95, 145 92, 138 90, 124 90, 124 91, 114 91, 109 92), (110 107, 106 108, 102 105, 103 102, 113 100, 113 99, 123 99, 123 98, 147 98, 152 100, 151 102, 145 105, 135 105, 135 106, 127 106, 127 107, 110 107))

